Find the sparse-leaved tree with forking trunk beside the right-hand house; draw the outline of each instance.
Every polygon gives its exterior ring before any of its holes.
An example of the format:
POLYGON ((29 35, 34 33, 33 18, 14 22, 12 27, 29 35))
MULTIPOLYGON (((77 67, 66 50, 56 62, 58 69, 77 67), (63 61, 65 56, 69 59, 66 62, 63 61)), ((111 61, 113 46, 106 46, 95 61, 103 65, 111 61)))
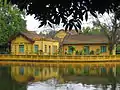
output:
POLYGON ((99 19, 93 22, 95 27, 101 29, 102 32, 106 35, 109 41, 109 51, 110 54, 113 54, 113 50, 115 49, 116 45, 119 43, 120 40, 120 21, 117 20, 118 13, 114 12, 112 16, 110 16, 110 22, 108 23, 101 23, 99 19))

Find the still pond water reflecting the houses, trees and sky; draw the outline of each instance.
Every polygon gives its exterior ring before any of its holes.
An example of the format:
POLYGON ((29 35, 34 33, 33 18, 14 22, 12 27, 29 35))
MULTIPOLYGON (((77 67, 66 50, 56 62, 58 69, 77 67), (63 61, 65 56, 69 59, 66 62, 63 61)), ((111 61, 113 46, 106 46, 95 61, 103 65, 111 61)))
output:
POLYGON ((119 63, 1 65, 0 90, 120 90, 119 63))

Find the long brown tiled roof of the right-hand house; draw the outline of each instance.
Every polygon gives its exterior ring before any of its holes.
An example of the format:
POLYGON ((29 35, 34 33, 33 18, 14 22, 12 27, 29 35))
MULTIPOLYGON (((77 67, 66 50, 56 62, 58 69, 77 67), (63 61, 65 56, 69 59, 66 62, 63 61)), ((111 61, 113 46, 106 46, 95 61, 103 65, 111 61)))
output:
POLYGON ((63 44, 107 44, 108 39, 104 35, 67 35, 63 40, 63 44))

